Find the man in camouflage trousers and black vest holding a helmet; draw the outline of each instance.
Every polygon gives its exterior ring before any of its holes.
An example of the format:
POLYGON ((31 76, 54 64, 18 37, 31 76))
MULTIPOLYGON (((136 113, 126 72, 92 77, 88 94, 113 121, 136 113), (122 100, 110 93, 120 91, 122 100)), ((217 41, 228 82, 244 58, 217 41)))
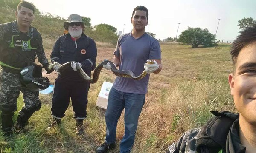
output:
MULTIPOLYGON (((19 80, 21 69, 35 62, 36 56, 46 70, 49 65, 41 34, 31 26, 34 10, 31 3, 21 1, 15 12, 17 20, 0 24, 0 110, 2 130, 7 135, 12 133, 12 117, 17 110, 20 91, 25 105, 19 111, 13 130, 23 130, 30 116, 41 108, 39 92, 23 87, 19 80)), ((51 72, 47 70, 48 74, 51 72)))

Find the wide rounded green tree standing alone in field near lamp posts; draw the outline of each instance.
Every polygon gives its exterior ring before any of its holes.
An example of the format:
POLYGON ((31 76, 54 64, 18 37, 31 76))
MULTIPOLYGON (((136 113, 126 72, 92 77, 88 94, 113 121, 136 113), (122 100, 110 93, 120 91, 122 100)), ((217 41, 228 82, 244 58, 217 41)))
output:
POLYGON ((204 45, 204 47, 213 46, 215 43, 215 35, 211 34, 207 28, 191 28, 183 31, 178 39, 179 42, 191 45, 192 48, 197 48, 198 45, 204 45))

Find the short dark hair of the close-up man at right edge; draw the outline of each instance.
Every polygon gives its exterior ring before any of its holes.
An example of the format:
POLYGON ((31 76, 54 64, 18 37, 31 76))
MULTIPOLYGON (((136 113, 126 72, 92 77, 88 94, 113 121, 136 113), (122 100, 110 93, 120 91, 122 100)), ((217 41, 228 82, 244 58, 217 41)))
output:
POLYGON ((256 24, 244 28, 244 30, 240 31, 239 33, 240 34, 233 42, 230 51, 233 65, 235 65, 237 62, 239 52, 244 47, 247 47, 248 45, 256 42, 256 24))

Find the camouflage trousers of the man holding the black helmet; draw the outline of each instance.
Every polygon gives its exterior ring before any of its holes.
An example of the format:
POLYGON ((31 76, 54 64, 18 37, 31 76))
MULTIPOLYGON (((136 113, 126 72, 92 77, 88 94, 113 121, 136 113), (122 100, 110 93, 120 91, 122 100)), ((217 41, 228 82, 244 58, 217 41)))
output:
POLYGON ((17 98, 20 91, 23 94, 23 109, 30 111, 41 105, 39 92, 29 91, 20 84, 20 74, 0 71, 0 109, 6 112, 15 112, 17 110, 17 98))

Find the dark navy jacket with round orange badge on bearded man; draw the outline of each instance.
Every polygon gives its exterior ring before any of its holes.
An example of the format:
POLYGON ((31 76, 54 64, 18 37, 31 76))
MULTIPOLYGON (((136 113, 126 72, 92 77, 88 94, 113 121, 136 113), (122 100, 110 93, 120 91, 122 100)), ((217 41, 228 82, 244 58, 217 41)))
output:
MULTIPOLYGON (((57 39, 51 53, 51 61, 64 64, 70 61, 81 63, 84 72, 90 76, 96 67, 97 48, 96 43, 90 37, 82 34, 76 41, 72 40, 70 34, 64 34, 57 39)), ((65 74, 59 74, 62 79, 81 81, 78 72, 71 67, 65 74)))

